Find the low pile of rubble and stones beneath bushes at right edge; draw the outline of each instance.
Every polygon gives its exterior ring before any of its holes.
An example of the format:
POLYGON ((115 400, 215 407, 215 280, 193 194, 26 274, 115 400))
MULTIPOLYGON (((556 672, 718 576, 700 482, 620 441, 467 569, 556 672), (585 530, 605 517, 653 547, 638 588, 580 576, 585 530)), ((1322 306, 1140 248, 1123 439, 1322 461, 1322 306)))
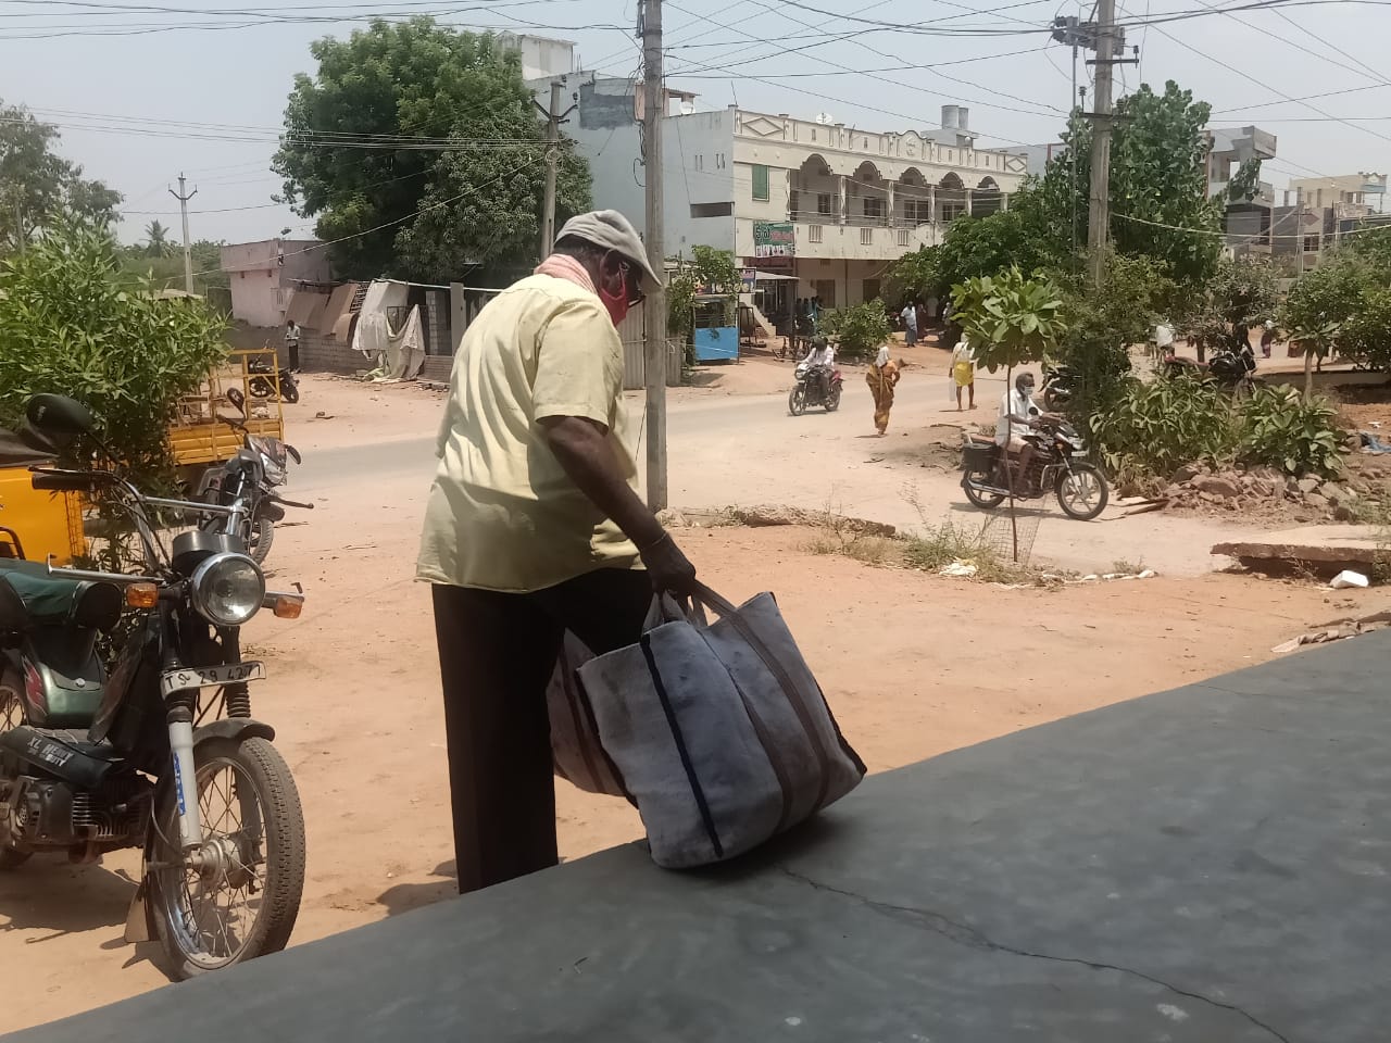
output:
POLYGON ((1302 513, 1313 520, 1355 522, 1369 499, 1380 499, 1387 471, 1362 467, 1327 480, 1316 476, 1291 478, 1274 467, 1213 469, 1198 463, 1175 471, 1164 488, 1170 506, 1257 513, 1263 508, 1302 513))

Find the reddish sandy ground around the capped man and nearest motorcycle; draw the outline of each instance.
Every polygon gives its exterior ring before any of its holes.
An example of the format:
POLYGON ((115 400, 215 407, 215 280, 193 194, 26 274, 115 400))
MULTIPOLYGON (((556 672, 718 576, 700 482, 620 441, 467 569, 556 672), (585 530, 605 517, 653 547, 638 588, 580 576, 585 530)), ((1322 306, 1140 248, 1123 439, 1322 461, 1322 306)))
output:
MULTIPOLYGON (((289 430, 306 460, 417 438, 438 414, 419 389, 307 384, 289 430)), ((296 944, 453 893, 428 597, 410 579, 424 492, 413 471, 364 483, 345 469, 321 484, 270 562, 275 581, 303 581, 303 617, 246 631, 248 654, 271 673, 253 693, 256 715, 280 731, 309 827, 296 944)), ((1381 590, 1346 597, 1230 574, 1003 590, 815 556, 814 535, 680 538, 726 597, 778 594, 872 770, 1249 666, 1312 624, 1391 608, 1381 590)), ((640 834, 625 802, 558 790, 566 858, 640 834)), ((36 858, 0 876, 0 1030, 166 982, 153 947, 121 941, 136 871, 120 852, 82 868, 36 858)))

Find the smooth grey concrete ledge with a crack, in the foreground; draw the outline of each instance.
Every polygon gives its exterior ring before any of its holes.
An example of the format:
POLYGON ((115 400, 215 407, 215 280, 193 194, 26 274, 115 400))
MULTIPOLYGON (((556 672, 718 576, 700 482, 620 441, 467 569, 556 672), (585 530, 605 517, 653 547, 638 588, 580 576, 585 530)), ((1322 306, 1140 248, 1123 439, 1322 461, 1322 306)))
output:
POLYGON ((1301 652, 875 776, 736 865, 616 848, 6 1039, 1378 1043, 1388 656, 1301 652))

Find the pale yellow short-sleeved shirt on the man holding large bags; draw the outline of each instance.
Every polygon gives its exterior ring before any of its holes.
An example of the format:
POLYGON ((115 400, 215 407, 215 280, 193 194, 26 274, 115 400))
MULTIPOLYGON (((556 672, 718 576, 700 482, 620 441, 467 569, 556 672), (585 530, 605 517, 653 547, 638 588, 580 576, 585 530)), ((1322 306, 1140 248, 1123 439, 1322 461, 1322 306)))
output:
POLYGON ((495 296, 463 335, 435 452, 416 577, 536 591, 601 567, 640 567, 637 548, 561 469, 538 420, 608 427, 623 476, 623 345, 587 289, 531 275, 495 296))

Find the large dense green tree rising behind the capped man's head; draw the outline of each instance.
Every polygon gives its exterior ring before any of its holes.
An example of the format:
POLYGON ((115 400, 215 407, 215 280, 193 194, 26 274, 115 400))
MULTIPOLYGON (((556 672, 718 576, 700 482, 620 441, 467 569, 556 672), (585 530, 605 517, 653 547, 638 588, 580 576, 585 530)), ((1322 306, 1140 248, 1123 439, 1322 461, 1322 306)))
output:
MULTIPOLYGON (((341 275, 434 282, 534 261, 544 135, 515 50, 424 17, 310 50, 319 68, 295 78, 273 167, 317 235, 344 239, 341 275)), ((569 149, 556 196, 558 220, 588 206, 569 149)))

